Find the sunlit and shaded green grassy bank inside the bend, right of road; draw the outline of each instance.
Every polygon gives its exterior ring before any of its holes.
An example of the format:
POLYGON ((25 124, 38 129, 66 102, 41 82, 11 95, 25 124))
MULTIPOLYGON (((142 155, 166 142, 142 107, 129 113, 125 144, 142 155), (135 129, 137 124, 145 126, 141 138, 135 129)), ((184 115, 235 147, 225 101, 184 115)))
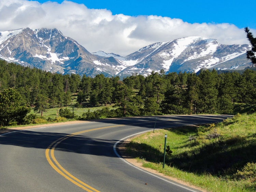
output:
POLYGON ((256 191, 256 113, 222 123, 147 132, 127 145, 143 166, 208 191, 256 191), (164 135, 173 151, 162 168, 164 135))

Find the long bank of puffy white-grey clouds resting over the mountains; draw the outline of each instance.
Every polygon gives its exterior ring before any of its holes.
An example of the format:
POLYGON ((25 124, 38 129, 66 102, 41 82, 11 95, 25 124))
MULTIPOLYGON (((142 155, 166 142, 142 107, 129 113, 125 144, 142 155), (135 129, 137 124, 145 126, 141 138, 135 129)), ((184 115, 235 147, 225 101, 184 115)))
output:
MULTIPOLYGON (((103 50, 122 56, 155 42, 186 36, 217 39, 222 44, 248 44, 245 32, 233 24, 187 23, 161 16, 113 15, 106 9, 88 9, 71 1, 0 1, 0 31, 29 27, 57 28, 88 51, 103 50)), ((252 30, 254 32, 254 30, 252 30)))

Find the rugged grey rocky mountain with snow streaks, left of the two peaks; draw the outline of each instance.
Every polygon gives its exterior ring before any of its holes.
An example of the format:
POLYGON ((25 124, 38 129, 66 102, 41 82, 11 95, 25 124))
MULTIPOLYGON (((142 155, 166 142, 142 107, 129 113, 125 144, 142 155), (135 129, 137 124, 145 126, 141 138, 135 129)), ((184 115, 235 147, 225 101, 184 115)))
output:
POLYGON ((51 72, 106 76, 121 71, 113 57, 89 53, 58 29, 23 28, 0 32, 0 58, 51 72))

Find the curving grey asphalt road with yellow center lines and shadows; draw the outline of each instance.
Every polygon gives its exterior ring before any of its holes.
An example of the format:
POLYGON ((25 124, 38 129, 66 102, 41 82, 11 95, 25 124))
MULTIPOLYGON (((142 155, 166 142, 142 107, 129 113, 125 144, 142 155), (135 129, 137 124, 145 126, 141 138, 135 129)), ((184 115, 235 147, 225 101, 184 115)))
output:
MULTIPOLYGON (((156 128, 227 117, 158 116, 156 128)), ((0 191, 197 191, 143 172, 117 156, 113 146, 120 139, 152 131, 155 120, 104 119, 1 135, 0 191)))

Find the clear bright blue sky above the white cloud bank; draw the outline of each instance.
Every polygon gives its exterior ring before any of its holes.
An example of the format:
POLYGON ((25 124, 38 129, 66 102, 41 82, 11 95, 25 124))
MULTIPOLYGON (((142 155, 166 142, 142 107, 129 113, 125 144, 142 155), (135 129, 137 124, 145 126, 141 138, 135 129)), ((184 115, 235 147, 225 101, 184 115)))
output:
MULTIPOLYGON (((39 0, 47 2, 48 0, 39 0)), ((63 0, 52 0, 61 3, 63 0)), ((90 9, 108 9, 114 15, 158 15, 188 23, 230 23, 256 29, 256 0, 71 0, 90 9), (248 7, 249 5, 249 7, 248 7), (254 8, 254 9, 251 9, 254 8)))

